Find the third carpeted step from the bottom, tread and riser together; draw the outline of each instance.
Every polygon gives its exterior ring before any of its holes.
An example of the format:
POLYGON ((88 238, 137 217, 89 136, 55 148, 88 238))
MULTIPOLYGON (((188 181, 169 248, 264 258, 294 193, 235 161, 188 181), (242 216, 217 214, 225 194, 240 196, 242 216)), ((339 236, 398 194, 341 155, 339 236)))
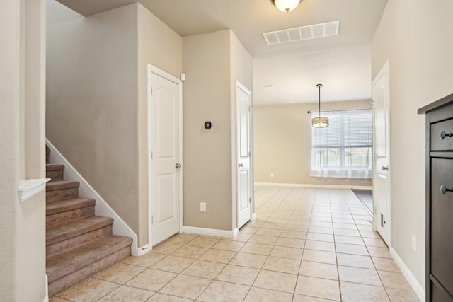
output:
POLYGON ((46 226, 55 226, 67 221, 94 215, 96 201, 91 198, 76 197, 58 200, 46 205, 46 226))

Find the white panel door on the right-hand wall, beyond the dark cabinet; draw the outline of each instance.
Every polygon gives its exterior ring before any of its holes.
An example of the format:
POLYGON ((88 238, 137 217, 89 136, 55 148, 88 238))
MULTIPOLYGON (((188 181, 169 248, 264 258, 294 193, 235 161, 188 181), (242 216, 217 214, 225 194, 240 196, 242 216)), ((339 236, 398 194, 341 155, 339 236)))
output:
POLYGON ((389 168, 389 62, 379 71, 372 87, 374 109, 374 228, 391 246, 389 168))

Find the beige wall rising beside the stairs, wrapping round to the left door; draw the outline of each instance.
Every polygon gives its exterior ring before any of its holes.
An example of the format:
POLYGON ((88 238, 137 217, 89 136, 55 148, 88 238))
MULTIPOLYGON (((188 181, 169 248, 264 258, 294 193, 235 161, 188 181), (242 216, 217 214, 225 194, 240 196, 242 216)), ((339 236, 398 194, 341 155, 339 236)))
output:
POLYGON ((140 4, 86 18, 48 6, 47 138, 144 245, 147 63, 180 73, 182 39, 140 4))

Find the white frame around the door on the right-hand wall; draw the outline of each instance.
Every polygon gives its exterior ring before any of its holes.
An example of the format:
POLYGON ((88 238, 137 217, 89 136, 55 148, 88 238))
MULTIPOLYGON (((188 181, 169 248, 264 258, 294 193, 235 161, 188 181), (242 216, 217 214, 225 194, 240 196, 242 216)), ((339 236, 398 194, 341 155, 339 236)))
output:
MULTIPOLYGON (((389 87, 390 87, 390 66, 389 66, 389 60, 387 60, 385 63, 384 63, 384 66, 382 66, 382 69, 379 71, 379 73, 377 74, 377 76, 374 78, 374 80, 372 81, 372 90, 374 90, 374 84, 377 83, 377 81, 379 81, 382 76, 386 76, 387 77, 387 81, 386 81, 386 98, 388 98, 389 100, 389 106, 388 108, 386 108, 386 115, 387 115, 387 119, 388 119, 388 126, 390 126, 390 92, 389 92, 389 87)), ((374 91, 372 91, 374 93, 374 91)), ((372 95, 372 98, 373 98, 373 113, 374 112, 374 95, 372 95)), ((373 114, 373 120, 374 120, 374 129, 376 129, 377 127, 377 117, 375 114, 373 114)), ((377 148, 377 136, 376 136, 376 133, 375 133, 375 130, 374 130, 374 133, 373 133, 373 137, 374 137, 374 148, 377 148)), ((389 127, 387 127, 386 129, 386 139, 388 140, 386 142, 387 144, 387 147, 388 147, 388 152, 386 153, 386 158, 387 158, 387 174, 386 174, 386 177, 387 177, 387 182, 388 182, 388 191, 387 191, 387 196, 386 196, 386 228, 387 228, 387 231, 388 231, 388 238, 384 238, 384 241, 386 242, 386 244, 389 246, 389 248, 391 248, 391 158, 390 158, 390 129, 389 127), (390 167, 390 168, 389 168, 390 167)), ((374 178, 377 178, 378 176, 376 176, 376 173, 377 173, 377 170, 378 168, 380 167, 377 167, 377 159, 378 159, 378 155, 377 153, 375 153, 373 151, 373 191, 374 191, 374 178)), ((373 198, 375 198, 373 196, 373 198)), ((379 224, 380 224, 380 215, 377 211, 377 202, 374 202, 373 200, 373 229, 374 230, 378 230, 379 228, 377 227, 379 224)))

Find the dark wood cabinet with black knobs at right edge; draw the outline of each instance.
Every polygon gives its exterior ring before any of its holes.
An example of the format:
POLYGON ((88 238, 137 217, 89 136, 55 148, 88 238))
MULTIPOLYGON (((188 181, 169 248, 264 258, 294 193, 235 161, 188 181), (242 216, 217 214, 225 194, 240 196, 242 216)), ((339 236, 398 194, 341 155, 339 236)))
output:
POLYGON ((453 94, 426 115, 426 301, 453 302, 453 94))

